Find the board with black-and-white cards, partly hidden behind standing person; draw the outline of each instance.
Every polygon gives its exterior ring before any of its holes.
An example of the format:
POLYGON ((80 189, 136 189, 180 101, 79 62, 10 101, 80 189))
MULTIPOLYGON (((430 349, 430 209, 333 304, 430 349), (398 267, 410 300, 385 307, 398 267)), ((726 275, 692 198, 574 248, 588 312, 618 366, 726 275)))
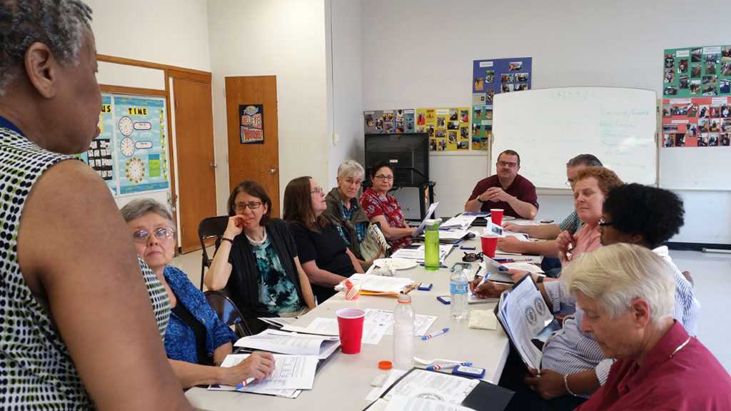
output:
POLYGON ((114 127, 112 126, 112 97, 102 95, 99 113, 99 135, 91 140, 89 148, 78 157, 104 179, 113 195, 118 194, 118 177, 114 167, 114 127))

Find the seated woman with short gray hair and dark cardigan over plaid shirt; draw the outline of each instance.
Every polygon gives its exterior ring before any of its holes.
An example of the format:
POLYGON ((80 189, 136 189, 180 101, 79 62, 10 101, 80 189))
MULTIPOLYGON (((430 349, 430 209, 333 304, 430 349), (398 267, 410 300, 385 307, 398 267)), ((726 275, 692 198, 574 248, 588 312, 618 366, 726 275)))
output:
POLYGON ((382 250, 371 261, 365 261, 360 252, 360 244, 368 234, 368 216, 358 200, 358 192, 363 184, 366 170, 355 160, 347 159, 338 166, 338 186, 333 187, 325 196, 327 208, 322 215, 330 220, 330 224, 338 230, 345 245, 355 254, 358 262, 372 263, 382 250))

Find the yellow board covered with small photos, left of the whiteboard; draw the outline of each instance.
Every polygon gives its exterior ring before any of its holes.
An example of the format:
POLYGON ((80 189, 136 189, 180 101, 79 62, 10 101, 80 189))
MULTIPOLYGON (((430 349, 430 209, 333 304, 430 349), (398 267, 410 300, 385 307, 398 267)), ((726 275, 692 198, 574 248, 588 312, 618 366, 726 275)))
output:
POLYGON ((469 107, 417 108, 416 132, 429 133, 430 151, 469 150, 469 107))

